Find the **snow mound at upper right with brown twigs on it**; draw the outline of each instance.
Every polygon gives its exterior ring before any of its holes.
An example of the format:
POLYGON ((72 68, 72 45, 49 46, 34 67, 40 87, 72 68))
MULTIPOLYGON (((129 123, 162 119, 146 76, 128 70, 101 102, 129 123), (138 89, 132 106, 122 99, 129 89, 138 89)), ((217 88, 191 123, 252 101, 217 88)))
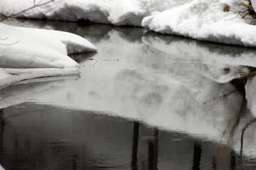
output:
POLYGON ((226 4, 237 11, 240 9, 239 6, 234 6, 237 2, 232 0, 194 0, 145 17, 141 25, 164 34, 256 47, 256 27, 247 24, 237 14, 223 12, 226 4))

